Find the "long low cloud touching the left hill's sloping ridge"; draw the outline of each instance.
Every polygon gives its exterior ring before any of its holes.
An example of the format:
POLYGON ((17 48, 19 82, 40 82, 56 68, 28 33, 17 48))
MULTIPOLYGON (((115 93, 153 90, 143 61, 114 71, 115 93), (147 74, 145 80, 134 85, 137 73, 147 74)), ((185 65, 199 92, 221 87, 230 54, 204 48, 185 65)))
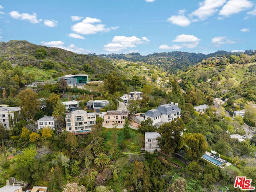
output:
POLYGON ((72 51, 72 52, 75 52, 75 53, 78 53, 78 54, 88 54, 90 52, 89 50, 85 50, 83 48, 78 48, 74 44, 70 44, 67 47, 63 46, 64 42, 62 42, 62 41, 50 41, 50 42, 42 41, 40 43, 42 45, 45 45, 45 46, 58 47, 58 48, 65 49, 67 51, 72 51))

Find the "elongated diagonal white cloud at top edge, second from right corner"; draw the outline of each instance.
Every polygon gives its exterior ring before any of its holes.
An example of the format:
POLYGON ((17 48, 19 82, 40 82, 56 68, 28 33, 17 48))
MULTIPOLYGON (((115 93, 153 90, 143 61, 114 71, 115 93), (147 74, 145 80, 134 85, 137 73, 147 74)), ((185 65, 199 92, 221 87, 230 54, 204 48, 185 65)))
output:
POLYGON ((196 16, 200 20, 205 20, 215 12, 218 12, 218 7, 221 7, 226 3, 226 0, 204 0, 199 2, 199 8, 194 10, 190 16, 196 16))

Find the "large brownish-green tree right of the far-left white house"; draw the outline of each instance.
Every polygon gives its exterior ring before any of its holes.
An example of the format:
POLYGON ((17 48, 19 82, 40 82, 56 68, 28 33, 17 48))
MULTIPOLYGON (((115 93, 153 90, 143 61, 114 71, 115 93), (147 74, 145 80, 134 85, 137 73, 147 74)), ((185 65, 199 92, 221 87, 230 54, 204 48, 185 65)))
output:
POLYGON ((18 97, 20 98, 20 114, 24 119, 33 120, 36 112, 40 108, 40 100, 38 100, 37 93, 27 89, 21 91, 18 97))

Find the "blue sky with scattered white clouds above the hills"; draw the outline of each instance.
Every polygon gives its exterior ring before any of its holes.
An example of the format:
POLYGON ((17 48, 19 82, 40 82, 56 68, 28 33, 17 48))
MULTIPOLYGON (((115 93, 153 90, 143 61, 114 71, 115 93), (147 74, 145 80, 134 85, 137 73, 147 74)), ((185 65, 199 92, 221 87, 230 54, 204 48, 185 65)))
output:
POLYGON ((255 0, 0 0, 0 41, 76 53, 255 50, 255 0))

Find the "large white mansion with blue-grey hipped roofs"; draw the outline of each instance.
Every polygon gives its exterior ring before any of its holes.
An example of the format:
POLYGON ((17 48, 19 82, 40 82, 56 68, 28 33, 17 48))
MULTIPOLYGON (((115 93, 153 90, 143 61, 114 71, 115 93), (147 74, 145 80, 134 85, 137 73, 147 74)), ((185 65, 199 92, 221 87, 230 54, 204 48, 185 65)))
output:
POLYGON ((171 104, 160 105, 156 109, 148 110, 145 113, 145 119, 150 118, 153 124, 159 127, 165 122, 176 121, 177 118, 180 118, 180 112, 181 109, 178 108, 178 103, 173 104, 173 102, 171 102, 171 104))

